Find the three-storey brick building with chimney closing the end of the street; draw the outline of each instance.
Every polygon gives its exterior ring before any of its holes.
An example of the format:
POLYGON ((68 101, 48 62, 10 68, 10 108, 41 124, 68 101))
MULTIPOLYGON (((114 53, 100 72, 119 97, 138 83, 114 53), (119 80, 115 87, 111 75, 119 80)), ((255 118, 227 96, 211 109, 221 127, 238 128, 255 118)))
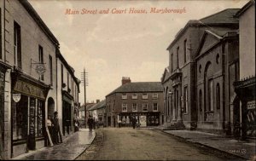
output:
POLYGON ((107 126, 131 126, 131 117, 142 127, 163 123, 163 87, 160 82, 131 83, 122 78, 122 85, 106 96, 107 126))

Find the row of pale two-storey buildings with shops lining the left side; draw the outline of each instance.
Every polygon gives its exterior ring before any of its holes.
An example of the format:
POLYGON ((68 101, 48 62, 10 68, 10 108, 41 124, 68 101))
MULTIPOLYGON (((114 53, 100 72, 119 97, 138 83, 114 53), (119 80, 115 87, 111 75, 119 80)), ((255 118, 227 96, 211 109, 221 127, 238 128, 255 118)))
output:
POLYGON ((57 38, 26 0, 0 2, 0 158, 46 146, 46 120, 59 113, 73 133, 79 79, 57 38))

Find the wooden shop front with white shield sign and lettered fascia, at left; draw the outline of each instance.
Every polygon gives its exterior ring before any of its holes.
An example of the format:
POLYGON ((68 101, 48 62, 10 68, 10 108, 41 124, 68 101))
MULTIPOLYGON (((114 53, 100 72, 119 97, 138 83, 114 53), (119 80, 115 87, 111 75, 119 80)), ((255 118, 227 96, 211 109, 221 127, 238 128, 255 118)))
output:
POLYGON ((12 77, 11 154, 12 157, 44 147, 47 85, 25 75, 12 77))

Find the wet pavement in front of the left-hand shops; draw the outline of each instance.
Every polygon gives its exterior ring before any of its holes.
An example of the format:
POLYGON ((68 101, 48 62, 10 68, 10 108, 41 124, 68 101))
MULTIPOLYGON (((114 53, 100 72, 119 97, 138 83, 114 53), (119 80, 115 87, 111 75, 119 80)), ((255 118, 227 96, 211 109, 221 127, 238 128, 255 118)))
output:
POLYGON ((30 151, 14 160, 74 160, 90 146, 96 136, 95 131, 89 134, 89 129, 79 129, 78 132, 68 136, 63 143, 54 147, 44 147, 30 151))

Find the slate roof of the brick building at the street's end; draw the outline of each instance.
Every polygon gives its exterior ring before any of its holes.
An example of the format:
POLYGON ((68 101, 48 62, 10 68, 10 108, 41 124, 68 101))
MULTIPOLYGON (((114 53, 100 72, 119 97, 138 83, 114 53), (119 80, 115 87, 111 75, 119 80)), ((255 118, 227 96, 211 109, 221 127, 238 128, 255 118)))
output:
POLYGON ((108 95, 129 92, 162 92, 163 90, 163 86, 160 82, 135 82, 125 83, 124 85, 119 86, 119 88, 113 90, 113 92, 108 95))

